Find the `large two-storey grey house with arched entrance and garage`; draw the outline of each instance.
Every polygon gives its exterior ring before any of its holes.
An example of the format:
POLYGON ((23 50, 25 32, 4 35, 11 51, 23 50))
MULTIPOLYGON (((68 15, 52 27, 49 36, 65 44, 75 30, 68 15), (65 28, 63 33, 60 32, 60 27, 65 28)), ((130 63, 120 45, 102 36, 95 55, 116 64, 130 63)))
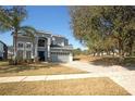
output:
POLYGON ((17 37, 17 58, 51 62, 71 62, 72 49, 66 38, 39 31, 32 39, 26 35, 17 37))

